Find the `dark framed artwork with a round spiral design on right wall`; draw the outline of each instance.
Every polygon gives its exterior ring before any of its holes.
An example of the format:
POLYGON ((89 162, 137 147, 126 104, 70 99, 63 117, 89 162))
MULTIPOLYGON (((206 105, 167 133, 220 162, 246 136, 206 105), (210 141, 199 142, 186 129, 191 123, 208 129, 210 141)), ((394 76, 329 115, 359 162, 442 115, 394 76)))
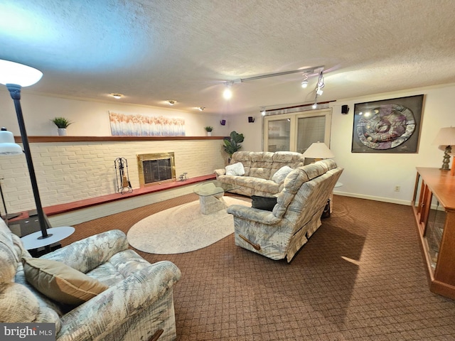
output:
POLYGON ((424 95, 356 103, 353 153, 417 153, 424 95))

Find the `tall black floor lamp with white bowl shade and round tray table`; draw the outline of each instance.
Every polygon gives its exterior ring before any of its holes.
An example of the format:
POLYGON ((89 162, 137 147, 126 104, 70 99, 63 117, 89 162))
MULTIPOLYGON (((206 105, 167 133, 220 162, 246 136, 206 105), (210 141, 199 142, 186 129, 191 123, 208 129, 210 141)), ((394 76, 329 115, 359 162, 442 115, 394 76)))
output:
MULTIPOLYGON (((50 244, 60 241, 63 238, 73 234, 74 227, 55 227, 50 228, 48 218, 45 216, 43 207, 41 205, 41 198, 38 191, 38 183, 36 181, 35 168, 31 158, 30 146, 28 144, 28 136, 26 126, 23 121, 22 108, 21 108, 21 88, 28 87, 35 84, 43 73, 33 67, 10 62, 9 60, 0 60, 0 84, 6 85, 9 94, 14 101, 16 109, 17 120, 19 129, 21 131, 21 138, 23 144, 23 153, 25 153, 28 173, 30 173, 31 187, 33 190, 33 197, 36 204, 36 212, 38 214, 38 222, 40 231, 28 234, 23 237, 23 244, 26 249, 38 249, 38 247, 46 247, 50 244), (41 233, 40 233, 41 232, 41 233), (64 237, 63 237, 64 236, 64 237)), ((14 155, 22 153, 20 146, 16 144, 14 147, 14 136, 6 129, 0 131, 0 155, 14 155), (8 134, 9 133, 9 134, 8 134)))

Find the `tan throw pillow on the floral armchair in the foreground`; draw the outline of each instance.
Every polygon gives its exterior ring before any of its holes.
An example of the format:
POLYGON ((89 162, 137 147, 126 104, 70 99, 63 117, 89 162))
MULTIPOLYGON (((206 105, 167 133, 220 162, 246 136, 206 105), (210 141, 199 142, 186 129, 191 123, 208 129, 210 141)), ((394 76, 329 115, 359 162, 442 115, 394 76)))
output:
POLYGON ((22 262, 28 283, 60 303, 79 305, 109 288, 60 261, 23 258, 22 262))

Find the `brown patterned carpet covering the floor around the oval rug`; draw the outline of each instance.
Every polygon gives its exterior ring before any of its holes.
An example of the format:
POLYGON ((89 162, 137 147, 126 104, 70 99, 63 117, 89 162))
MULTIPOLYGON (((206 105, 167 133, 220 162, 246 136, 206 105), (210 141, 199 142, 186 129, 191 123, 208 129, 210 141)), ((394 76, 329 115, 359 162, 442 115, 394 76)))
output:
MULTIPOLYGON (((75 226, 64 244, 197 200, 184 195, 75 226)), ((182 272, 177 340, 455 340, 455 301, 431 293, 409 206, 335 196, 291 264, 235 246, 138 252, 182 272)), ((455 269, 454 269, 455 271, 455 269)))

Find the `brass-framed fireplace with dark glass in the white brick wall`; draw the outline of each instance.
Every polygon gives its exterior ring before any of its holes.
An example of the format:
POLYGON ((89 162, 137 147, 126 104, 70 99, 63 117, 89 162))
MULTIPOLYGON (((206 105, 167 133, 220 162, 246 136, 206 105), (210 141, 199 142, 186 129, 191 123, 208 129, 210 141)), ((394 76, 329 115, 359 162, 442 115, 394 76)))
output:
POLYGON ((137 155, 137 169, 141 187, 176 180, 173 152, 137 155))

